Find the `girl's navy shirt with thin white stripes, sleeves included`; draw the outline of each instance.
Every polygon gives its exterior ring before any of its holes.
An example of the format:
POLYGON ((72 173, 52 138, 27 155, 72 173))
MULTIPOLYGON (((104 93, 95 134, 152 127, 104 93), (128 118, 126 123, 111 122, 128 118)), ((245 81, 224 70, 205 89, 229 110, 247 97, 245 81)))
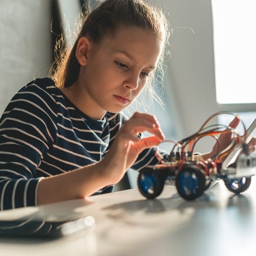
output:
MULTIPOLYGON (((0 210, 35 206, 40 177, 100 161, 124 122, 122 113, 89 118, 49 78, 21 88, 0 119, 0 210)), ((156 163, 144 150, 132 168, 156 163)))

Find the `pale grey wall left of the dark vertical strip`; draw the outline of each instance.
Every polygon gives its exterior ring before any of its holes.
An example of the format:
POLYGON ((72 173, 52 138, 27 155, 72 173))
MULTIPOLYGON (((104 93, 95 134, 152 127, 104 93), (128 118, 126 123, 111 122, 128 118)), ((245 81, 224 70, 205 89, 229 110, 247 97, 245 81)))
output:
POLYGON ((0 114, 19 88, 47 75, 50 24, 49 0, 0 0, 0 114))

